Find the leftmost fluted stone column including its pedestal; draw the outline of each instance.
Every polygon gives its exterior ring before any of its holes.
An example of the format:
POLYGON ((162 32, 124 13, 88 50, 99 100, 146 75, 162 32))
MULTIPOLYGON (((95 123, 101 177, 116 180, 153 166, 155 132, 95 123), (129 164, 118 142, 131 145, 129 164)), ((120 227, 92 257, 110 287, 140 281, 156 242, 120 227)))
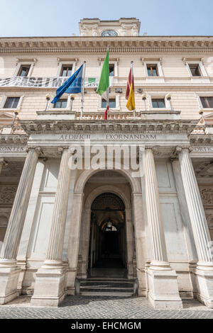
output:
POLYGON ((39 148, 28 149, 25 164, 18 184, 13 208, 9 218, 4 244, 0 254, 0 304, 17 297, 18 275, 20 269, 16 264, 18 245, 21 239, 23 222, 26 216, 31 194, 35 167, 38 162, 39 148))

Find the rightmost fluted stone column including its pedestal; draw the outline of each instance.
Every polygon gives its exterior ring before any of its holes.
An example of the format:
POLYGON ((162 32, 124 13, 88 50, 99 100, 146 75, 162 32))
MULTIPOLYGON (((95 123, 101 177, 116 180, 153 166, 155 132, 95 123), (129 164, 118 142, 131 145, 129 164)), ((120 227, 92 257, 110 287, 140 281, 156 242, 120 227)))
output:
POLYGON ((189 149, 178 147, 177 151, 179 152, 182 183, 185 189, 185 197, 198 256, 195 272, 197 298, 205 305, 213 307, 213 257, 209 228, 189 149))

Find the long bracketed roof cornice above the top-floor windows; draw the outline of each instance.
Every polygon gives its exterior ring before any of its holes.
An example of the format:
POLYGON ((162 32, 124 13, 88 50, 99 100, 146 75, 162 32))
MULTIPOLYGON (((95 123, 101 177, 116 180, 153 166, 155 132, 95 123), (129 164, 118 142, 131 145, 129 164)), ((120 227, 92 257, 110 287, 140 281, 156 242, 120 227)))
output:
POLYGON ((212 36, 0 38, 0 53, 212 52, 212 36))

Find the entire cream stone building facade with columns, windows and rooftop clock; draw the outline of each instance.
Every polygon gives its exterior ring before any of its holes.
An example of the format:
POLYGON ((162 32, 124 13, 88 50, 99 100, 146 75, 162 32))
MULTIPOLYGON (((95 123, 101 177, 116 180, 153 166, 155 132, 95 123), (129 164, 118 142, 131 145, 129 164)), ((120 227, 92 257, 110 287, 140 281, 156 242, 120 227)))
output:
POLYGON ((1 304, 129 281, 156 308, 213 307, 213 38, 139 30, 84 18, 80 36, 0 38, 1 304), (81 94, 50 101, 84 61, 81 118, 81 94))

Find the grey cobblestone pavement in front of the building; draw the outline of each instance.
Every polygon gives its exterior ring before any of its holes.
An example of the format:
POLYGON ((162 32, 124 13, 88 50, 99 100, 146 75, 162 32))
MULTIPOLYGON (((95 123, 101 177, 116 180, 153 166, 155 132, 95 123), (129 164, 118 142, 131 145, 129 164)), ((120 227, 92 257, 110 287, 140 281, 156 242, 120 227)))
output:
POLYGON ((0 318, 24 319, 213 319, 213 309, 197 300, 184 301, 182 310, 155 310, 146 298, 70 296, 60 307, 31 307, 23 298, 0 306, 0 318))

